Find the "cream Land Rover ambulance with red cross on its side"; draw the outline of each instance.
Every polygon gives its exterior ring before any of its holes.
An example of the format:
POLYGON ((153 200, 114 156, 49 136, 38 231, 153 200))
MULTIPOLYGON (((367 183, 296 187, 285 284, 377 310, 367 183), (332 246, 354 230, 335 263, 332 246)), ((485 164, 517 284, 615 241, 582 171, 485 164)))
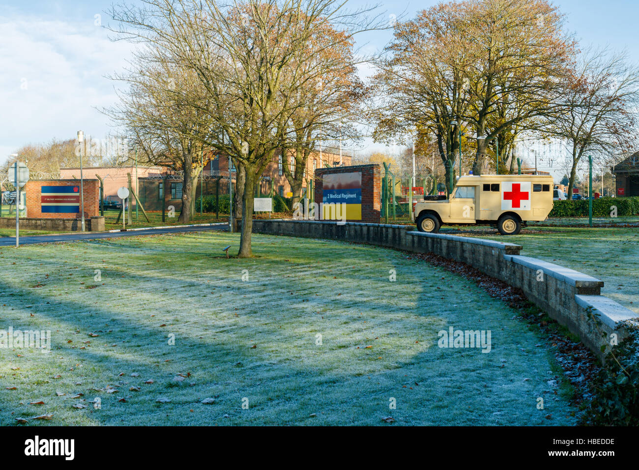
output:
POLYGON ((543 221, 553 208, 553 177, 546 175, 461 176, 449 200, 419 201, 417 229, 436 232, 442 224, 489 224, 517 235, 527 221, 543 221))

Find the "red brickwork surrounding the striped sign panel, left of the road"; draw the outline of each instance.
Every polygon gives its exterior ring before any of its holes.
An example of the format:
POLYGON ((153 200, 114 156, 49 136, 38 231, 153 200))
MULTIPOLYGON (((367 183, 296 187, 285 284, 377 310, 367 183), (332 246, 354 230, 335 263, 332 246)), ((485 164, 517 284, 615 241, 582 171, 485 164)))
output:
MULTIPOLYGON (((54 214, 41 212, 42 186, 80 186, 80 180, 52 180, 28 181, 25 185, 27 192, 27 217, 41 219, 79 219, 80 214, 54 214)), ((100 182, 98 180, 84 180, 84 218, 100 215, 100 182)))

